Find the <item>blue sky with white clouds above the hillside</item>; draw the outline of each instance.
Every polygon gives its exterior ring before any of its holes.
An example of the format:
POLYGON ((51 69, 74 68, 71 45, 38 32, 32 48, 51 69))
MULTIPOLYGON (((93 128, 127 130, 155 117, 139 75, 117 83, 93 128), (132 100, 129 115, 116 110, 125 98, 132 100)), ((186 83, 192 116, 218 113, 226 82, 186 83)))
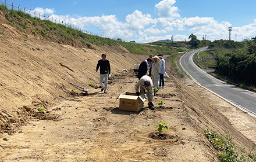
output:
MULTIPOLYGON (((5 0, 0 0, 5 2, 5 0)), ((71 23, 94 33, 140 43, 162 39, 242 41, 256 36, 255 0, 18 1, 6 3, 71 23)))

